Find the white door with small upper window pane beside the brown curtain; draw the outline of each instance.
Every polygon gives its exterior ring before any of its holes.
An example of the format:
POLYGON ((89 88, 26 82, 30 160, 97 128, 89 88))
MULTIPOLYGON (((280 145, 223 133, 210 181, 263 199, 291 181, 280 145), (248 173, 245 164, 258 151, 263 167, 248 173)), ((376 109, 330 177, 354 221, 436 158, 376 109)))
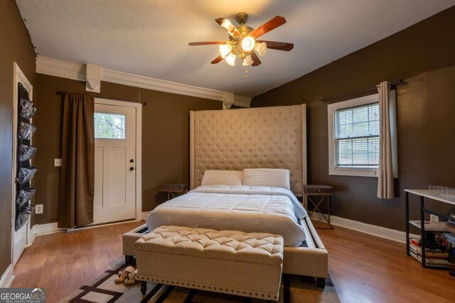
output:
POLYGON ((135 218, 136 109, 95 103, 94 224, 135 218))

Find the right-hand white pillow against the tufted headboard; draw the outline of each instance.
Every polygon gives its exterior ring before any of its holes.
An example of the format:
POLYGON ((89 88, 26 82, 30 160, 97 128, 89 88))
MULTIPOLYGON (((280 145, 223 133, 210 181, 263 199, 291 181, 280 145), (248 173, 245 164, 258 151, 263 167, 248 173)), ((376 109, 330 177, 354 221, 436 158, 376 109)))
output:
POLYGON ((291 189, 289 170, 282 168, 245 168, 243 185, 291 189))

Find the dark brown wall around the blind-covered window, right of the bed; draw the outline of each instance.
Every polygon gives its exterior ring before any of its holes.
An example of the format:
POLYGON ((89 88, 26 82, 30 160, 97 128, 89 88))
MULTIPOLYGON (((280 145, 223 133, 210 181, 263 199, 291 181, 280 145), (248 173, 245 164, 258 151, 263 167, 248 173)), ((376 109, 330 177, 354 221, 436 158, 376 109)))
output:
MULTIPOLYGON (((455 6, 253 98, 255 107, 307 104, 309 184, 336 189, 331 214, 404 230, 404 189, 455 187, 454 16, 455 6), (318 101, 374 87, 385 79, 409 82, 397 89, 399 197, 393 200, 375 197, 375 178, 328 175, 327 104, 318 101)), ((418 216, 417 208, 412 215, 418 216)))

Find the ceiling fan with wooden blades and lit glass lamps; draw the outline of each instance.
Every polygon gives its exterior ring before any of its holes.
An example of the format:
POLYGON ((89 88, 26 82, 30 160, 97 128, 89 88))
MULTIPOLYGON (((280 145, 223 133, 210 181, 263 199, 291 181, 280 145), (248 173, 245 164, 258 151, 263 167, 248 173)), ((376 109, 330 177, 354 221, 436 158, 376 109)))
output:
POLYGON ((288 52, 294 48, 293 43, 258 40, 260 36, 286 23, 286 19, 282 16, 275 16, 255 30, 250 26, 245 26, 245 23, 248 21, 247 13, 237 13, 237 15, 235 15, 235 21, 237 21, 240 26, 234 26, 226 18, 215 19, 216 23, 220 24, 222 28, 225 28, 225 30, 228 31, 229 38, 227 41, 191 42, 188 43, 188 45, 219 44, 220 55, 210 63, 217 64, 224 59, 228 65, 231 66, 235 65, 235 59, 237 59, 237 57, 243 61, 242 65, 257 66, 261 64, 261 60, 257 57, 256 52, 262 57, 267 53, 267 48, 272 50, 286 50, 288 52))

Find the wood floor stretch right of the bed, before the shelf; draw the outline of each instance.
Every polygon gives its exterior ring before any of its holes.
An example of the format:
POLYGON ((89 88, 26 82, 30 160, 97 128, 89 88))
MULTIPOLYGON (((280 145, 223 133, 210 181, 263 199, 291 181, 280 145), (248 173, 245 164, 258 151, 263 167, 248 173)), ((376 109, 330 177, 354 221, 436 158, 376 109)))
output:
POLYGON ((317 231, 342 302, 455 302, 455 277, 422 268, 405 244, 335 228, 317 231))

